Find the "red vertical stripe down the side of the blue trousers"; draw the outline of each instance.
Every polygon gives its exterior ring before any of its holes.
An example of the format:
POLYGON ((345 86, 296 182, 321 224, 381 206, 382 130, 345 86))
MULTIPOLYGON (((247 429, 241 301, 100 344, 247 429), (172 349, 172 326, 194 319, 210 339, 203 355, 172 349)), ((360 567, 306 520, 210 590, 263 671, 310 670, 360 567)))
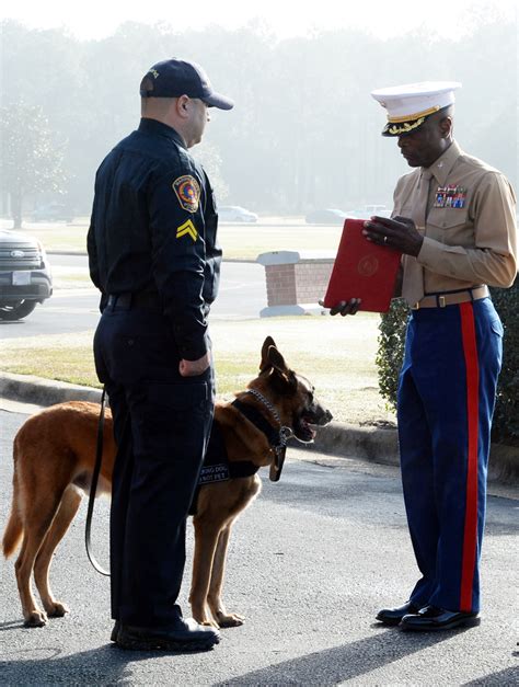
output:
POLYGON ((466 369, 466 421, 469 455, 466 465, 465 529, 463 535, 463 559, 461 569, 460 610, 472 610, 472 587, 477 542, 477 432, 480 400, 480 367, 471 302, 460 305, 461 335, 466 369))

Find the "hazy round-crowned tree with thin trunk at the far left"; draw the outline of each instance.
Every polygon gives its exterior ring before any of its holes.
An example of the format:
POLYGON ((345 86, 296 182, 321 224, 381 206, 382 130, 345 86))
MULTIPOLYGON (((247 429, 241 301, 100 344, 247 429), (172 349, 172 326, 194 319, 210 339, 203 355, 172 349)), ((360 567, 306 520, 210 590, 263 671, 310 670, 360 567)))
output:
POLYGON ((22 226, 23 201, 28 195, 64 193, 65 144, 58 145, 37 105, 18 102, 0 108, 0 172, 9 193, 13 229, 22 226))

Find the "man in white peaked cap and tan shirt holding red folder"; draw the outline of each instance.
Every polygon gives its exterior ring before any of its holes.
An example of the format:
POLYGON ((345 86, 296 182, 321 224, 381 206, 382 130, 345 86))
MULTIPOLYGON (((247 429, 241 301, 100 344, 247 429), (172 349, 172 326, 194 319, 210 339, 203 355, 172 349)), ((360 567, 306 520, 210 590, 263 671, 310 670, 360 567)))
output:
MULTIPOLYGON (((517 271, 515 194, 506 178, 452 136, 458 82, 372 93, 384 136, 414 168, 396 184, 392 219, 365 234, 401 251, 411 307, 397 398, 402 481, 422 577, 408 600, 377 619, 404 630, 480 622, 480 557, 503 327, 487 285, 517 271)), ((358 299, 332 313, 355 313, 358 299)))

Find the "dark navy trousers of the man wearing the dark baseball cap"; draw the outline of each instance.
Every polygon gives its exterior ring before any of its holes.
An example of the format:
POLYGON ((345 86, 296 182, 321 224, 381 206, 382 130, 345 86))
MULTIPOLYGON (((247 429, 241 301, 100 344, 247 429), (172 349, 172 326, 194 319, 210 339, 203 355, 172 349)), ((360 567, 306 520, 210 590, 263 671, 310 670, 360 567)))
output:
POLYGON ((180 355, 158 310, 105 308, 94 337, 117 444, 111 507, 112 617, 168 627, 185 565, 185 527, 209 439, 212 369, 178 374, 180 355))

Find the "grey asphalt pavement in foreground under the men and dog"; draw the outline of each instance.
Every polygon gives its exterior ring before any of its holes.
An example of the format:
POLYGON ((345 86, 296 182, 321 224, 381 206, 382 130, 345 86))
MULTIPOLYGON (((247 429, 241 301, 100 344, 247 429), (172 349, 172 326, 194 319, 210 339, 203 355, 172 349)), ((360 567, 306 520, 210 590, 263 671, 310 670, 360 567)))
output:
MULTIPOLYGON (((20 408, 20 407, 16 407, 20 408)), ((11 499, 12 438, 24 421, 0 411, 0 526, 11 499)), ((263 471, 264 473, 266 471, 263 471)), ((238 522, 224 599, 246 616, 195 655, 122 652, 108 641, 108 581, 83 545, 86 504, 57 550, 53 588, 71 612, 22 627, 13 561, 0 563, 1 685, 517 685, 517 489, 488 500, 481 627, 403 633, 373 621, 415 581, 397 469, 290 449, 280 482, 263 474, 258 500, 238 522)), ((106 563, 107 503, 95 511, 94 547, 106 563)), ((188 615, 188 563, 181 603, 188 615)))

